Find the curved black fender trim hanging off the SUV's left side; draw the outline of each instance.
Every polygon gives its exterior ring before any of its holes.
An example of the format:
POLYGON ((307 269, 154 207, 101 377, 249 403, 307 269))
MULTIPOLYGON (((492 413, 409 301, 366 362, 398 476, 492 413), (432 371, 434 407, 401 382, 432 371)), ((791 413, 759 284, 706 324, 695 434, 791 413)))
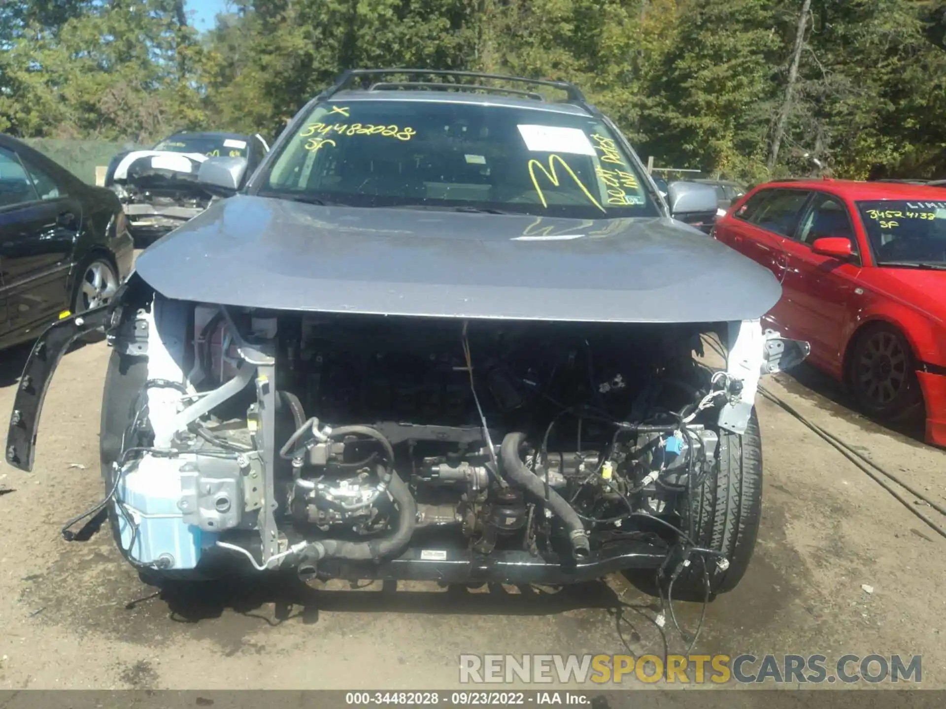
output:
POLYGON ((7 434, 7 462, 14 468, 33 469, 36 452, 36 433, 40 413, 53 372, 72 343, 79 337, 106 324, 112 308, 102 305, 79 315, 63 318, 46 328, 36 340, 20 377, 13 412, 9 417, 7 434))

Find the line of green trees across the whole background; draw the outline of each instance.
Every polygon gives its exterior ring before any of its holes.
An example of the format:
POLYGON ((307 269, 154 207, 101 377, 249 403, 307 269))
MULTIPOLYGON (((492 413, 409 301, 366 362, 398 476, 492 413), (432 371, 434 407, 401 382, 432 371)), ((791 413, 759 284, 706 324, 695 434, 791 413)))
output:
POLYGON ((182 0, 0 5, 0 130, 149 143, 281 130, 344 68, 568 78, 657 164, 757 182, 946 176, 946 0, 813 0, 779 162, 766 156, 801 0, 182 0))

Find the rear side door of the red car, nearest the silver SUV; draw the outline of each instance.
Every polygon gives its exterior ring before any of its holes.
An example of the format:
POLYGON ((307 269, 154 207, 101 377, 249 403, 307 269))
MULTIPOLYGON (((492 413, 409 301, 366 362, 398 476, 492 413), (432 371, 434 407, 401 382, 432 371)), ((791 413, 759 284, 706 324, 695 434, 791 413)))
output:
MULTIPOLYGON (((767 187, 745 201, 735 214, 717 224, 716 238, 771 270, 779 282, 787 268, 786 243, 811 196, 807 189, 767 187)), ((784 334, 793 333, 784 292, 765 320, 784 334)), ((793 334, 792 337, 795 337, 793 334)))

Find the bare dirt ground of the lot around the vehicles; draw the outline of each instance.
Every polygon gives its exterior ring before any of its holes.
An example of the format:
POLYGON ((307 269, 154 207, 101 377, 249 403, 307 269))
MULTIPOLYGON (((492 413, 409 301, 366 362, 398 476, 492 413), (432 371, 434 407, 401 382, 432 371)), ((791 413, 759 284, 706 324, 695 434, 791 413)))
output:
MULTIPOLYGON (((25 354, 2 355, 4 420, 25 354)), ((525 595, 283 580, 157 594, 120 562, 107 529, 72 544, 60 537, 61 523, 103 492, 97 432, 108 354, 96 344, 65 357, 46 398, 35 471, 0 466, 0 688, 443 689, 458 683, 460 653, 664 651, 655 600, 622 578, 525 595)), ((768 386, 946 500, 946 454, 796 379, 768 386)), ((742 585, 710 604, 696 649, 830 660, 921 653, 923 685, 946 686, 943 540, 796 419, 761 398, 759 409, 760 542, 742 585)), ((698 605, 679 605, 685 627, 698 614, 698 605)), ((672 652, 685 648, 672 632, 666 639, 672 652)))

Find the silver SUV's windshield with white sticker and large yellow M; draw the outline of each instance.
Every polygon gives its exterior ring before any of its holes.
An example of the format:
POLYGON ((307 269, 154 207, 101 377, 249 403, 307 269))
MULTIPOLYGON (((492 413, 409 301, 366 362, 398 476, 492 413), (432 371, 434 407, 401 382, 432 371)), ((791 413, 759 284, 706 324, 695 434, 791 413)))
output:
POLYGON ((263 196, 357 207, 659 216, 600 120, 447 101, 318 105, 260 185, 263 196))

